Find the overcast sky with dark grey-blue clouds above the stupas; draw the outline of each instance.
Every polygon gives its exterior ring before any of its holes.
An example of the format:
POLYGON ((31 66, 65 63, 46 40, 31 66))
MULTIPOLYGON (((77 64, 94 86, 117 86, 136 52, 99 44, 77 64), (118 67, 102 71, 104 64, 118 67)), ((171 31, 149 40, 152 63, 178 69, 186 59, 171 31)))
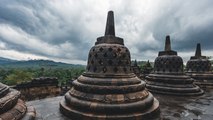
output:
POLYGON ((213 56, 213 0, 0 0, 0 57, 86 64, 114 11, 131 59, 153 61, 165 36, 184 61, 213 56))

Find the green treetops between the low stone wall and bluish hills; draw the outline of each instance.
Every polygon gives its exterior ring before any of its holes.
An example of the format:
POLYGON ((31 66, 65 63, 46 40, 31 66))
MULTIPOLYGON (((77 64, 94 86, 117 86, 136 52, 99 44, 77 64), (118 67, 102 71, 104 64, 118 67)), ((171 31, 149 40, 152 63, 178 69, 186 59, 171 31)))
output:
POLYGON ((83 66, 74 68, 0 68, 0 82, 7 85, 16 85, 37 77, 57 77, 59 85, 64 85, 70 80, 76 79, 84 71, 83 66))

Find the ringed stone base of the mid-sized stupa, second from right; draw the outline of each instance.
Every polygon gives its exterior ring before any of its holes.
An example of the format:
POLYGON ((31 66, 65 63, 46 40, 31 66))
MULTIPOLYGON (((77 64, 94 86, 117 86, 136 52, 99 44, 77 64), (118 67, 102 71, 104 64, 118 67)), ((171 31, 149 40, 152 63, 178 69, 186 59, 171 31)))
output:
POLYGON ((189 76, 185 75, 150 74, 146 79, 146 88, 151 93, 176 96, 198 96, 204 93, 202 89, 192 83, 189 76))

